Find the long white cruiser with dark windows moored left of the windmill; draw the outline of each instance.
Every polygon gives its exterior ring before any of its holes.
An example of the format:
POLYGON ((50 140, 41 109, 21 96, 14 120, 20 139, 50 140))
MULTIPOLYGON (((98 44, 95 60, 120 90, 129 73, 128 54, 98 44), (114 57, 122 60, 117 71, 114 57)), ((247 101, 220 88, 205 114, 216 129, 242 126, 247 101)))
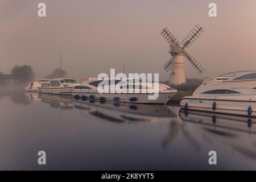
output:
MULTIPOLYGON (((166 104, 176 93, 176 89, 170 88, 170 86, 166 84, 159 84, 159 96, 154 100, 148 99, 152 93, 148 92, 149 89, 154 89, 154 84, 152 83, 152 87, 150 86, 143 86, 146 82, 142 80, 135 82, 134 79, 125 78, 122 79, 122 84, 126 86, 126 88, 131 88, 134 90, 138 88, 139 92, 129 92, 128 93, 117 93, 112 92, 111 85, 114 85, 114 88, 117 84, 120 84, 121 80, 117 78, 105 78, 104 80, 109 81, 110 90, 109 93, 98 93, 98 85, 102 80, 97 80, 97 77, 94 78, 85 78, 81 81, 80 85, 77 85, 73 88, 72 95, 74 97, 80 98, 90 98, 90 99, 97 99, 97 100, 104 100, 104 101, 115 101, 115 102, 133 102, 139 104, 166 104), (144 91, 146 92, 142 92, 144 91)), ((122 85, 122 86, 123 86, 122 85)), ((121 86, 121 87, 122 87, 121 86)))

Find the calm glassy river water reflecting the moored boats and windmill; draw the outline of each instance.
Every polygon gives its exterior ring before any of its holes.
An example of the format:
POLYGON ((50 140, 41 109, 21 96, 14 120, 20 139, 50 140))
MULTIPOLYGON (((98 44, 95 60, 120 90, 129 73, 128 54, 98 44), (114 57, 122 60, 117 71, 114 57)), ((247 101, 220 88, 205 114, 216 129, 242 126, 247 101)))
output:
POLYGON ((256 169, 254 118, 0 88, 0 169, 256 169))

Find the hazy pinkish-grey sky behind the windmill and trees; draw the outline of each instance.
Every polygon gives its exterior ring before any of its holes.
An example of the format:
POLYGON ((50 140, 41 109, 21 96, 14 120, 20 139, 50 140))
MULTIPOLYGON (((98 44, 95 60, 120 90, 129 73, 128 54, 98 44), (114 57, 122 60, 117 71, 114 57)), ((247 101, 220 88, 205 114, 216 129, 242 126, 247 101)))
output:
POLYGON ((196 24, 203 34, 187 49, 205 68, 198 75, 185 61, 188 78, 256 68, 256 1, 205 0, 0 0, 0 71, 29 64, 37 78, 60 67, 71 77, 97 76, 115 68, 160 73, 170 59, 160 35, 167 27, 181 42, 196 24), (38 3, 47 17, 38 17, 38 3), (210 2, 217 17, 208 16, 210 2))

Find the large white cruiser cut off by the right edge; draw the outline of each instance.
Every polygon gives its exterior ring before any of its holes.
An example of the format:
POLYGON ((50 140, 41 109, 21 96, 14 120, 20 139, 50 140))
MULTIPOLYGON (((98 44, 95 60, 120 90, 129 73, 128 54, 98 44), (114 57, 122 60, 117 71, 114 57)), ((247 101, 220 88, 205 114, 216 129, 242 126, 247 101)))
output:
POLYGON ((256 117, 256 71, 239 71, 204 79, 180 107, 213 113, 256 117))

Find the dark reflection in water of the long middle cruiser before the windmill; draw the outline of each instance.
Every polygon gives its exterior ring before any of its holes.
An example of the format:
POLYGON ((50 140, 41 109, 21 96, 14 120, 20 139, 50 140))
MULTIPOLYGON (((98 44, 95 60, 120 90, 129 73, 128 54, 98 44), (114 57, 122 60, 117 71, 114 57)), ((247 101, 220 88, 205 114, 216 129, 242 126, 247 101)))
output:
POLYGON ((176 115, 166 105, 131 104, 124 102, 73 100, 77 109, 112 122, 170 121, 176 115))

